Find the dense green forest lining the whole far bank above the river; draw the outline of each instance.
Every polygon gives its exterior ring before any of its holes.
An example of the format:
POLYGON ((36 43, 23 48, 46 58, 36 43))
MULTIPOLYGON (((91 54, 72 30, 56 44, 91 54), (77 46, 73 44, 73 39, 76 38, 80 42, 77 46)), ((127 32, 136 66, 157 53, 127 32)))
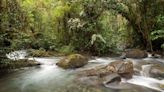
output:
POLYGON ((31 48, 93 55, 162 50, 164 1, 0 0, 0 43, 2 56, 31 48))

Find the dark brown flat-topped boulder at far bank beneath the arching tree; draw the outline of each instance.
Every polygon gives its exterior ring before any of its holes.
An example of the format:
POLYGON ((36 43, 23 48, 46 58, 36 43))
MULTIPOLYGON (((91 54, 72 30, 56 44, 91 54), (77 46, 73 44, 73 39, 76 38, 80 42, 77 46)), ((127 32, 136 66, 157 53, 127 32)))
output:
POLYGON ((146 58, 148 53, 140 49, 128 49, 122 55, 123 58, 146 58))

